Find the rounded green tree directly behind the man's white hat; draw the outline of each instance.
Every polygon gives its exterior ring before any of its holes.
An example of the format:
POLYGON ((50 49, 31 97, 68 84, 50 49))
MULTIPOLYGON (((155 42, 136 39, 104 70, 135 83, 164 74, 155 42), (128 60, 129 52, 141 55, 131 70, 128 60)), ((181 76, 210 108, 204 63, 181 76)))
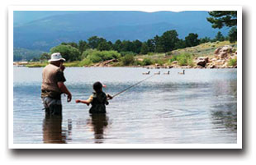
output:
POLYGON ((78 48, 73 48, 70 45, 60 44, 54 48, 50 48, 50 53, 61 53, 67 61, 73 62, 80 59, 78 48))

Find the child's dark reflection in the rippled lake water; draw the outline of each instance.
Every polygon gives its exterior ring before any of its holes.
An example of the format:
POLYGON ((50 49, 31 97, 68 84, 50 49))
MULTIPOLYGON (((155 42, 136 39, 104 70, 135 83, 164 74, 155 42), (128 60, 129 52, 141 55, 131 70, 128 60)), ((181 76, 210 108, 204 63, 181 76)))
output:
POLYGON ((104 130, 108 125, 108 118, 105 113, 95 113, 90 115, 88 125, 92 127, 94 131, 95 143, 103 143, 104 130))

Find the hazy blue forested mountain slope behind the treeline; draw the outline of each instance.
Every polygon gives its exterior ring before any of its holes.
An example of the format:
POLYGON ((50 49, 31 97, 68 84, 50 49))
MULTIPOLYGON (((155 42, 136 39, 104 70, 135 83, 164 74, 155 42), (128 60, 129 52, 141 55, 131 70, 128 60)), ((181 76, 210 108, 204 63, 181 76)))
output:
MULTIPOLYGON (((177 30, 181 39, 189 33, 214 38, 219 31, 206 21, 207 11, 45 11, 45 15, 44 11, 31 11, 30 15, 23 11, 23 17, 19 17, 19 11, 15 14, 14 47, 46 52, 62 42, 78 42, 92 35, 115 42, 145 41, 166 30, 177 30)), ((225 28, 220 31, 228 33, 225 28)))

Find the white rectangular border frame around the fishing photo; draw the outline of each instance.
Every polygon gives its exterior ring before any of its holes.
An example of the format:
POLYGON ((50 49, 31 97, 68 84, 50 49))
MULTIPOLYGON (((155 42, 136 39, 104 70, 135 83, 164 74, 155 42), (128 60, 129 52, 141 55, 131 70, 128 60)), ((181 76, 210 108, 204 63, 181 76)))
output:
POLYGON ((242 149, 241 6, 12 6, 8 7, 9 149, 242 149), (13 144, 13 11, 237 11, 237 144, 13 144))

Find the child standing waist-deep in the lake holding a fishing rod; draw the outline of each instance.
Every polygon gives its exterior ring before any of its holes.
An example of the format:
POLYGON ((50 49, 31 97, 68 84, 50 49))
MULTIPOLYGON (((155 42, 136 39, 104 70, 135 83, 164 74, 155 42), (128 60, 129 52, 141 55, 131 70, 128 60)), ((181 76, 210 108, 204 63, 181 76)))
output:
POLYGON ((102 91, 102 83, 96 82, 92 85, 92 88, 95 92, 92 93, 89 99, 87 100, 75 100, 76 103, 86 103, 89 105, 92 104, 92 107, 90 108, 90 113, 106 113, 106 105, 108 105, 107 99, 112 99, 111 95, 105 94, 102 91))

